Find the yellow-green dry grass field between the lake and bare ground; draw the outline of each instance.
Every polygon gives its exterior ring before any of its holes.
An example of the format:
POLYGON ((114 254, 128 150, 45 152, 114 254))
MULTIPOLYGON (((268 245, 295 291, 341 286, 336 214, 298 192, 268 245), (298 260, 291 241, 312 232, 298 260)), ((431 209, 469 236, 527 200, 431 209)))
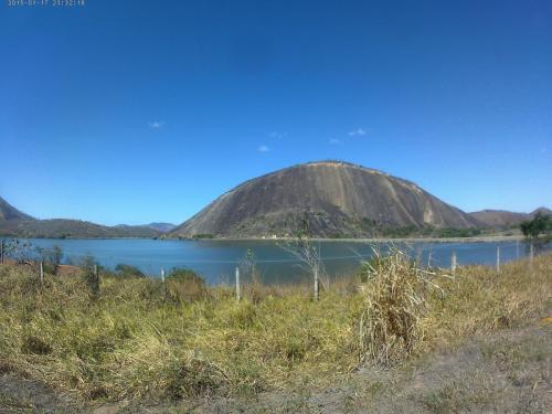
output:
POLYGON ((359 354, 396 362, 549 316, 551 268, 546 255, 532 269, 466 267, 449 279, 396 252, 319 301, 309 286, 255 286, 236 302, 230 288, 185 296, 173 280, 168 295, 159 280, 114 277, 93 299, 78 276, 41 286, 30 267, 0 266, 0 365, 92 401, 322 385, 358 368, 359 354))

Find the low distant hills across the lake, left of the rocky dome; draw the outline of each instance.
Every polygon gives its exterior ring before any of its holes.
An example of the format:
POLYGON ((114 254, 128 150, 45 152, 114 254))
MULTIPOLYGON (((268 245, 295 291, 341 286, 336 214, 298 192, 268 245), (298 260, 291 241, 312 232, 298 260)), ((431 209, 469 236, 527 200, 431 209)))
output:
POLYGON ((18 237, 157 237, 161 232, 146 226, 105 226, 81 220, 36 220, 0 198, 0 235, 18 237))

